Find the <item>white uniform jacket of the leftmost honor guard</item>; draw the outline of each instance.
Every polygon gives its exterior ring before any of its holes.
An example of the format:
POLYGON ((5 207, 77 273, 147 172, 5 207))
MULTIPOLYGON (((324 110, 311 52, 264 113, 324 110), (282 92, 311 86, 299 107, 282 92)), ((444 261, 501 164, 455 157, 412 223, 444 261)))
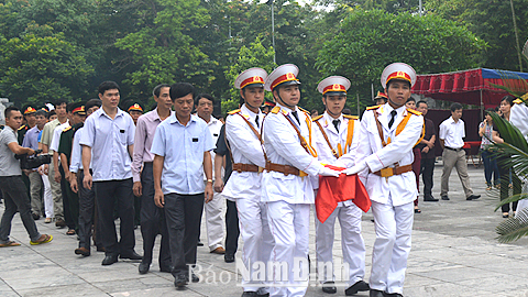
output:
MULTIPOLYGON (((240 109, 240 113, 258 131, 262 125, 264 113, 258 111, 258 114, 249 110, 245 105, 240 109), (258 127, 255 122, 255 116, 258 116, 258 127)), ((232 162, 242 164, 253 164, 260 167, 266 165, 264 158, 264 147, 255 133, 248 125, 248 122, 240 117, 240 114, 228 116, 226 120, 226 138, 229 141, 229 146, 232 153, 232 162)), ((261 196, 261 178, 260 173, 239 173, 233 170, 229 180, 223 188, 222 195, 229 199, 254 198, 261 196)))

